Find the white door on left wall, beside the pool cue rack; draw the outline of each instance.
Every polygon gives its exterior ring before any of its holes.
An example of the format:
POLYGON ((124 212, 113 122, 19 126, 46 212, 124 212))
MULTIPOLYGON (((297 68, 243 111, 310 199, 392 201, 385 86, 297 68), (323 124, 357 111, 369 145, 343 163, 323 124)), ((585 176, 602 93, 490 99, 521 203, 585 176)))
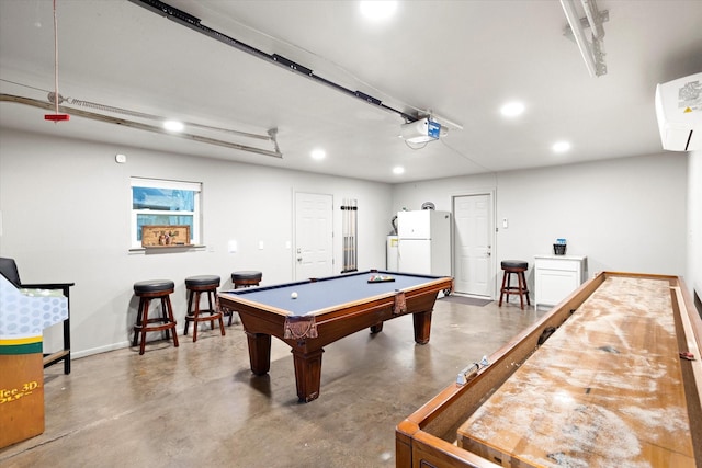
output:
POLYGON ((295 279, 333 274, 331 195, 295 193, 295 279))

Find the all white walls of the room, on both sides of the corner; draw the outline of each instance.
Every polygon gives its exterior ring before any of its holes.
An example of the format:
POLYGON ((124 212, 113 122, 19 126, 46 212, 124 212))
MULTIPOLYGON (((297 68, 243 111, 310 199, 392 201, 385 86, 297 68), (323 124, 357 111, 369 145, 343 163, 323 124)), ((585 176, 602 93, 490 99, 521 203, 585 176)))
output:
MULTIPOLYGON (((125 346, 137 303, 132 285, 176 282, 182 323, 183 279, 218 274, 230 286, 236 270, 260 270, 263 284, 293 279, 293 194, 332 194, 335 231, 342 198, 359 201, 359 267, 384 267, 385 236, 403 207, 495 191, 495 259, 547 253, 557 237, 601 270, 687 275, 702 289, 702 155, 665 153, 530 171, 386 185, 220 160, 115 148, 3 129, 0 142, 0 255, 15 258, 25 282, 75 282, 75 356, 125 346), (114 155, 126 153, 126 164, 114 155), (129 253, 129 176, 203 182, 206 250, 129 253), (687 210, 686 210, 687 205, 687 210), (227 242, 238 242, 236 253, 227 242), (265 248, 258 249, 263 241, 265 248)), ((338 238, 337 238, 338 239, 338 238)), ((335 241, 341 269, 341 246, 335 241)), ((496 285, 499 274, 496 274, 496 285)), ((530 282, 533 283, 530 272, 530 282)), ((533 284, 532 284, 533 285, 533 284)), ((59 330, 46 335, 56 346, 59 330)))

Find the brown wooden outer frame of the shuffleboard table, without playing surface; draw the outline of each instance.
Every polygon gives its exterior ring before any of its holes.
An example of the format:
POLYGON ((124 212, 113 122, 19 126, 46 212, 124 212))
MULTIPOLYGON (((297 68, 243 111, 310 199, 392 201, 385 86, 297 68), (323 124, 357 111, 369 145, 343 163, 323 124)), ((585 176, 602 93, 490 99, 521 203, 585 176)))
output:
MULTIPOLYGON (((678 276, 602 272, 554 307, 536 323, 519 333, 489 356, 489 367, 460 386, 452 384, 396 427, 397 467, 499 467, 456 445, 456 432, 521 363, 536 350, 542 333, 558 328, 609 276, 667 279, 680 350, 689 349, 697 361, 681 359, 692 445, 702 447, 702 320, 697 313, 684 282, 678 276)), ((702 467, 702 453, 695 450, 695 463, 702 467)))

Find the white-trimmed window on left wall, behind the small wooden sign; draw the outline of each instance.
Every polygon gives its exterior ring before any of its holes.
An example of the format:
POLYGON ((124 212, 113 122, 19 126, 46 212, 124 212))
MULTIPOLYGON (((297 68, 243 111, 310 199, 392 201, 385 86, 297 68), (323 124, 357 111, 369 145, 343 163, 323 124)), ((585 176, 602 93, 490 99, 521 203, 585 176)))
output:
POLYGON ((132 248, 141 247, 141 226, 190 226, 191 244, 201 243, 202 183, 132 178, 132 248))

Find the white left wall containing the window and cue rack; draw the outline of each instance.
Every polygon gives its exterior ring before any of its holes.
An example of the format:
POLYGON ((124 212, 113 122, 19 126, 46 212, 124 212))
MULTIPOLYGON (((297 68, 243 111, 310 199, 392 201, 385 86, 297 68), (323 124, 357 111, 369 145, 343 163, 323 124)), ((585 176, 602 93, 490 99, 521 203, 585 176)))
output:
MULTIPOLYGON (((390 186, 351 179, 262 168, 222 160, 115 148, 3 129, 0 151, 0 255, 14 258, 26 283, 75 282, 72 352, 79 357, 125 346, 138 301, 133 284, 176 282, 179 326, 185 313, 186 276, 217 274, 230 287, 237 270, 263 272, 262 284, 293 279, 295 191, 333 195, 335 271, 341 262, 343 198, 359 201, 359 269, 385 266, 390 186), (117 164, 115 153, 127 156, 117 164), (206 249, 129 253, 131 176, 203 183, 206 249), (236 253, 227 242, 238 242, 236 253), (259 250, 259 241, 264 249, 259 250)), ((45 347, 60 343, 58 329, 45 347)))

